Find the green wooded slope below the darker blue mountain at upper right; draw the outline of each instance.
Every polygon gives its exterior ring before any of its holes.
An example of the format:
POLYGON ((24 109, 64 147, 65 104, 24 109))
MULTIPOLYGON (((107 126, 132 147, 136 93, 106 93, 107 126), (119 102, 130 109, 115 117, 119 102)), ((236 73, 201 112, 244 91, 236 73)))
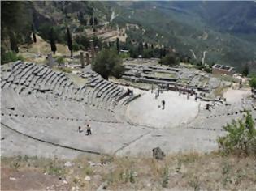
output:
MULTIPOLYGON (((129 9, 127 6, 117 8, 120 16, 116 23, 138 23, 147 32, 142 34, 140 30, 130 32, 129 36, 136 40, 156 42, 162 45, 171 45, 180 53, 191 56, 189 49, 193 49, 199 60, 203 51, 206 53, 206 62, 218 62, 225 65, 241 66, 246 62, 256 60, 256 45, 254 41, 245 40, 245 36, 233 36, 228 33, 216 32, 207 23, 193 13, 173 11, 157 4, 134 3, 129 9), (157 8, 154 9, 153 6, 157 8), (156 33, 159 34, 156 37, 156 33), (161 37, 163 36, 163 38, 161 37)), ((252 69, 255 70, 253 66, 252 69)))

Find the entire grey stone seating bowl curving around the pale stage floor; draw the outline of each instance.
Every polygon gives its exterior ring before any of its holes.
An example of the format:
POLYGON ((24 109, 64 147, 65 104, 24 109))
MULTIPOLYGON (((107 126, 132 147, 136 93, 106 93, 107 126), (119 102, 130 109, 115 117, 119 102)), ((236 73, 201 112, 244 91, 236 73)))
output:
MULTIPOLYGON (((245 109, 256 118, 251 100, 246 100, 213 104, 211 111, 201 107, 193 120, 175 127, 145 125, 127 116, 127 108, 136 103, 137 95, 128 96, 123 87, 92 70, 84 70, 81 77, 87 83, 77 87, 66 74, 47 66, 15 62, 2 69, 2 155, 151 155, 155 146, 167 153, 213 151, 216 138, 225 134, 223 125, 242 117, 245 109), (92 136, 85 136, 87 123, 92 136), (78 133, 78 126, 82 126, 82 133, 78 133)), ((144 96, 149 92, 143 91, 140 100, 151 104, 144 96)))

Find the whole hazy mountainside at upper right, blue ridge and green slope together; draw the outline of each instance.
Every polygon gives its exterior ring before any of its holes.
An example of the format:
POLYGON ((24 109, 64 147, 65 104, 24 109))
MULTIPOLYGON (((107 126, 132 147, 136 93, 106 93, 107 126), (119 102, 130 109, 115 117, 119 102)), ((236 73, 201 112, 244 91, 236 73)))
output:
POLYGON ((171 46, 189 57, 195 53, 197 60, 206 51, 208 64, 218 62, 241 70, 248 63, 255 69, 255 5, 254 2, 119 2, 119 17, 114 21, 123 26, 125 23, 141 26, 143 30, 128 32, 132 39, 171 46))

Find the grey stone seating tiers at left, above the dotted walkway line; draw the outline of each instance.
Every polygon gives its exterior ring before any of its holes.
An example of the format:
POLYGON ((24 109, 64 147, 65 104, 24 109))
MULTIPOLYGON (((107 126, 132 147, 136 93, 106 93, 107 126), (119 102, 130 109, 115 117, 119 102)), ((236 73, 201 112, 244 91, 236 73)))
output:
POLYGON ((15 62, 3 72, 2 116, 65 118, 118 122, 115 107, 130 99, 127 91, 94 72, 82 87, 48 66, 15 62))

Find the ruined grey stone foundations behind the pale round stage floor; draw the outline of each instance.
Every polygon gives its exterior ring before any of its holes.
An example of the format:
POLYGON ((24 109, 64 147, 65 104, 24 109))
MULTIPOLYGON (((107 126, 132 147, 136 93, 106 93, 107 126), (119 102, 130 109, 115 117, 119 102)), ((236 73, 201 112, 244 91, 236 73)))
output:
POLYGON ((193 68, 159 66, 157 61, 133 59, 124 63, 123 79, 137 83, 168 85, 173 91, 193 91, 198 99, 215 100, 214 91, 221 81, 211 74, 193 68))

